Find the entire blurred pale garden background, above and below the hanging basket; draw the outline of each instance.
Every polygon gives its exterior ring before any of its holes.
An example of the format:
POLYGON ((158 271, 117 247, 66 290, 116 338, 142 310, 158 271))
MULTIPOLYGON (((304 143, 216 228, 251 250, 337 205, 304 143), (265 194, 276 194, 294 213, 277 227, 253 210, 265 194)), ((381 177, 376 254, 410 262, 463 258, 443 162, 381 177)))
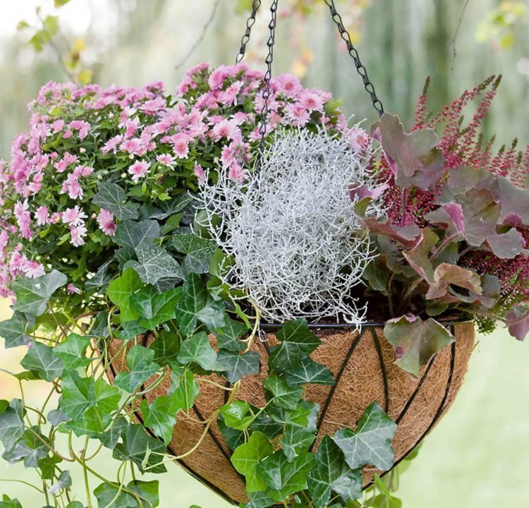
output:
MULTIPOLYGON (((27 126, 26 104, 47 81, 78 78, 103 85, 141 85, 163 80, 166 89, 173 90, 195 63, 233 61, 249 4, 248 0, 70 0, 55 8, 54 0, 0 0, 0 158, 8 158, 13 136, 27 126)), ((336 0, 336 4, 387 110, 409 122, 426 75, 432 77, 432 105, 439 106, 487 75, 501 73, 504 80, 487 131, 501 138, 498 145, 513 138, 522 145, 529 143, 527 2, 336 0)), ((263 0, 247 55, 261 67, 268 5, 263 0)), ((279 7, 274 73, 294 72, 305 85, 342 97, 343 109, 356 121, 375 120, 323 1, 280 0, 279 7)), ((0 302, 1 318, 9 312, 8 302, 0 302)), ((23 351, 0 350, 0 368, 19 370, 21 356, 23 351)), ((404 508, 529 506, 527 365, 529 346, 513 341, 503 329, 479 337, 454 407, 401 476, 398 494, 404 508)), ((38 400, 43 389, 39 383, 28 385, 28 399, 38 400)), ((17 395, 18 385, 0 371, 0 399, 17 395)), ((9 478, 30 481, 23 466, 0 463, 0 494, 18 497, 25 507, 40 506, 30 488, 4 482, 9 478)), ((177 466, 158 479, 162 507, 229 506, 177 466)))

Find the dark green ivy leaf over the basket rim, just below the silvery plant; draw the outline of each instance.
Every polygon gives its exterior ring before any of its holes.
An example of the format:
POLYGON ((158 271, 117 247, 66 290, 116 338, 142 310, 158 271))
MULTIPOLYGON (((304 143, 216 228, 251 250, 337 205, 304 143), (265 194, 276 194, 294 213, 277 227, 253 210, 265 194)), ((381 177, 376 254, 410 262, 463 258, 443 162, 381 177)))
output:
POLYGON ((272 348, 268 365, 269 368, 280 371, 290 370, 298 365, 322 344, 310 331, 305 319, 286 322, 276 337, 281 344, 272 348))

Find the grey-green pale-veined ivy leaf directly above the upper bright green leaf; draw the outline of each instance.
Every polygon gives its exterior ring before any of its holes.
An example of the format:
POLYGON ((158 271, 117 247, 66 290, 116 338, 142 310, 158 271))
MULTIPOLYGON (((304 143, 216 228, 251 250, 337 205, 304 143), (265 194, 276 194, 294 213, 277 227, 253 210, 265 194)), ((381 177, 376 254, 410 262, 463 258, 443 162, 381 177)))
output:
POLYGON ((156 284, 160 279, 183 280, 183 272, 174 258, 157 245, 142 245, 135 248, 138 261, 128 261, 125 268, 133 268, 146 284, 156 284))

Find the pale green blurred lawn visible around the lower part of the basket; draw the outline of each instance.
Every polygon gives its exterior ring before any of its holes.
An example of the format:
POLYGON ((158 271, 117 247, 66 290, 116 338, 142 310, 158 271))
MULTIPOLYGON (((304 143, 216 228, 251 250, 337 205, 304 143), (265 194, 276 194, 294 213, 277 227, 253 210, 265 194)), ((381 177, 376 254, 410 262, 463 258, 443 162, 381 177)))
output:
MULTIPOLYGON (((7 302, 0 316, 8 317, 7 302)), ((23 348, 0 350, 0 368, 19 370, 23 348)), ((463 388, 451 411, 427 437, 420 454, 401 476, 403 508, 529 507, 529 344, 516 342, 499 329, 479 337, 463 388)), ((28 400, 38 401, 44 387, 34 383, 28 400)), ((0 398, 16 397, 17 387, 0 372, 0 398)), ((114 478, 108 454, 97 459, 99 471, 114 478)), ((0 480, 34 478, 23 466, 0 462, 0 480)), ((75 493, 83 498, 80 471, 73 469, 75 493)), ((160 480, 162 508, 227 508, 178 466, 160 480)), ((92 488, 97 481, 92 480, 92 488)), ((39 508, 41 499, 25 485, 0 481, 0 492, 18 497, 24 508, 39 508)))

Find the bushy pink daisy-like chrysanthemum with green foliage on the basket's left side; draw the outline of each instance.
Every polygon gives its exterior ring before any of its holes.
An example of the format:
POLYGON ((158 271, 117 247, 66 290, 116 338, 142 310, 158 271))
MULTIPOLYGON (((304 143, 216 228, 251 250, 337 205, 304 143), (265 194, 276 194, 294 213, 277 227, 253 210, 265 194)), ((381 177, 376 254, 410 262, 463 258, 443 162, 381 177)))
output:
MULTIPOLYGON (((155 205, 159 193, 166 200, 198 191, 219 164, 242 181, 261 139, 262 77, 243 63, 204 63, 186 73, 175 97, 162 83, 42 87, 29 104, 28 133, 17 136, 11 161, 0 164, 0 294, 20 274, 37 277, 54 267, 54 258, 35 247, 44 238, 86 246, 88 272, 102 265, 116 248, 117 219, 92 203, 101 182, 118 183, 130 202, 155 205)), ((327 108, 328 92, 305 88, 293 75, 274 78, 271 89, 265 134, 325 126, 354 147, 366 143, 364 131, 327 108)), ((68 258, 66 247, 61 253, 68 258)))

